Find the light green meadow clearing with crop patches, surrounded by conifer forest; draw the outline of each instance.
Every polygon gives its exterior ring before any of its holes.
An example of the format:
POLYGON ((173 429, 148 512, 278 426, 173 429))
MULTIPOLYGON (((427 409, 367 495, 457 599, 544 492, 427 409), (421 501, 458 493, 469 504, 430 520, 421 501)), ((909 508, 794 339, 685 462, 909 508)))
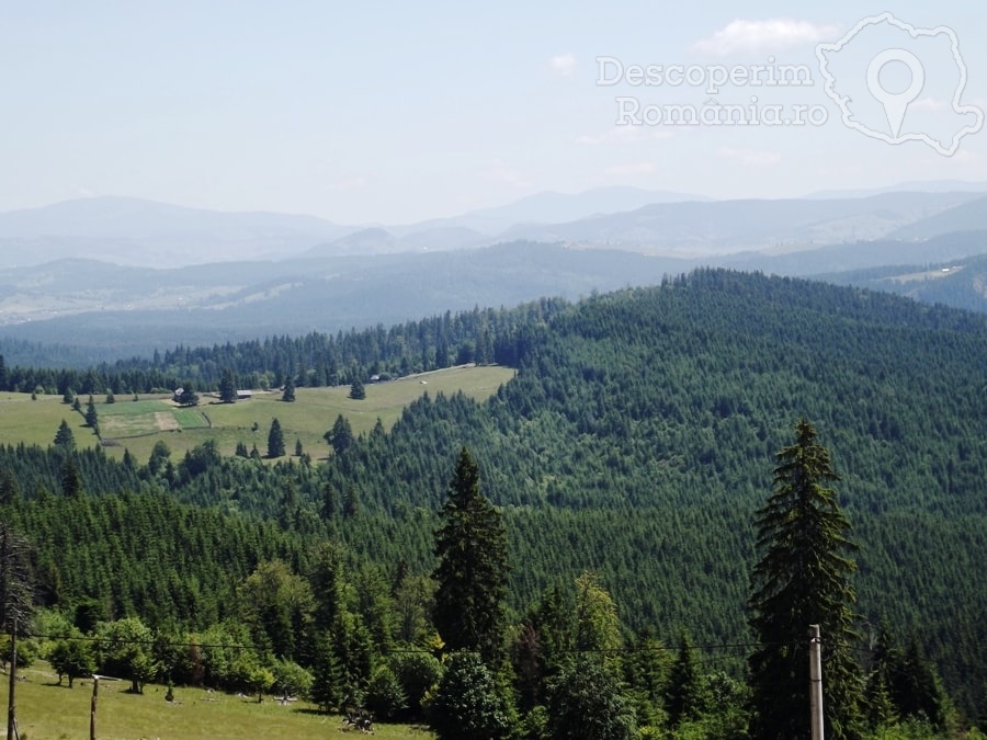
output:
MULTIPOLYGON (((349 386, 336 388, 297 388, 295 401, 285 403, 280 391, 254 391, 253 398, 236 403, 219 403, 213 396, 202 395, 194 408, 180 408, 167 396, 141 396, 138 400, 121 394, 115 403, 94 397, 100 432, 106 453, 123 457, 124 451, 145 462, 158 441, 163 441, 180 459, 186 451, 214 440, 224 455, 232 455, 237 443, 248 451, 257 446, 261 455, 268 451, 271 421, 277 419, 284 432, 288 455, 299 440, 304 452, 314 459, 329 454, 322 435, 341 413, 350 420, 354 433, 368 432, 377 419, 385 429, 400 418, 405 407, 424 392, 465 395, 483 400, 513 377, 514 371, 498 366, 465 366, 424 373, 389 383, 367 384, 366 398, 349 398, 349 386)), ((86 400, 81 399, 83 408, 86 400)), ((0 394, 0 444, 38 444, 47 446, 65 419, 79 447, 95 446, 99 440, 84 425, 82 415, 63 403, 60 396, 0 394)))

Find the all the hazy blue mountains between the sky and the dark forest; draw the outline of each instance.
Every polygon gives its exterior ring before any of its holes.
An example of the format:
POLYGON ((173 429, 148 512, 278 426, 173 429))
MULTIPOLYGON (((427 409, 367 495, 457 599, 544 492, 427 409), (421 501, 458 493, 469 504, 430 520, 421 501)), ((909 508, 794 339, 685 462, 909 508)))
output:
MULTIPOLYGON (((649 195, 623 189, 595 196, 546 194, 504 206, 497 218, 540 202, 558 216, 649 195)), ((987 194, 974 191, 651 203, 517 225, 499 236, 466 225, 479 221, 358 229, 127 198, 0 214, 0 353, 5 339, 129 356, 180 343, 336 332, 544 296, 575 299, 705 265, 821 275, 987 312, 987 262, 978 257, 987 254, 987 194), (183 254, 201 262, 213 253, 206 243, 222 243, 227 259, 186 266, 183 254), (45 259, 45 247, 60 257, 45 259), (126 259, 117 261, 121 249, 126 259)))

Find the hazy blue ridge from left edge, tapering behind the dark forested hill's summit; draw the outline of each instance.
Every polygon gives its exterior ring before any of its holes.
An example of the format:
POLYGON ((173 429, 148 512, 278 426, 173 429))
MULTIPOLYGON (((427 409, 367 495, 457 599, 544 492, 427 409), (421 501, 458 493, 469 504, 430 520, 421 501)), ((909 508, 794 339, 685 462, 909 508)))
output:
MULTIPOLYGON (((99 265, 75 263, 53 270, 92 282, 63 277, 42 297, 14 286, 16 271, 0 271, 0 286, 16 287, 13 299, 21 306, 32 298, 52 304, 32 305, 30 312, 22 308, 18 323, 10 322, 15 317, 7 311, 7 322, 0 323, 0 353, 4 339, 95 345, 131 356, 179 343, 336 332, 446 310, 650 285, 691 266, 633 252, 517 242, 444 253, 226 263, 202 270, 109 267, 110 285, 93 293, 99 265), (203 273, 214 283, 191 281, 192 274, 203 273)), ((36 281, 35 273, 20 274, 36 281)))

